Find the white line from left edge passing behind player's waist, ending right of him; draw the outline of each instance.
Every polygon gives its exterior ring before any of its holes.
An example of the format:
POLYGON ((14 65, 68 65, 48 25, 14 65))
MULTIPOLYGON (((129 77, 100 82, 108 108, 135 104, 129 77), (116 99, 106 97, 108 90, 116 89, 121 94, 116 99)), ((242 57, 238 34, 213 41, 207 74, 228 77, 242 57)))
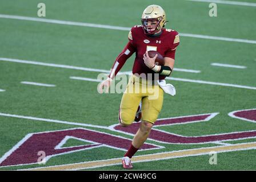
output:
MULTIPOLYGON (((38 61, 29 61, 29 60, 20 60, 20 59, 11 59, 6 57, 0 57, 0 61, 9 61, 14 63, 23 63, 23 64, 34 64, 34 65, 42 65, 46 67, 55 67, 55 68, 67 68, 67 69, 77 69, 81 71, 89 71, 89 72, 102 72, 102 73, 110 73, 109 70, 106 69, 94 69, 94 68, 85 68, 85 67, 75 67, 72 65, 63 65, 63 64, 53 64, 53 63, 43 63, 38 61)), ((199 70, 194 69, 183 69, 183 68, 174 68, 174 71, 179 72, 190 72, 190 73, 200 73, 199 70)), ((122 72, 119 72, 122 73, 122 72)), ((126 73, 126 72, 123 72, 126 73)), ((127 72, 128 73, 128 72, 127 72)), ((131 71, 129 71, 131 73, 131 71)))

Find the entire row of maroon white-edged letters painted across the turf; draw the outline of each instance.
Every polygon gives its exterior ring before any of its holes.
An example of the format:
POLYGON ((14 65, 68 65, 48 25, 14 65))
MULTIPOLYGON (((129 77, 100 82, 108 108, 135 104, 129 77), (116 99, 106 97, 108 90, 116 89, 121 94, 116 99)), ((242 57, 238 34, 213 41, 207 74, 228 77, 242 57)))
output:
MULTIPOLYGON (((175 143, 175 144, 197 144, 197 143, 209 143, 223 140, 237 140, 245 138, 256 138, 256 130, 242 131, 227 134, 213 134, 199 137, 186 137, 181 135, 175 135, 167 133, 165 131, 157 130, 157 126, 166 125, 179 125, 191 122, 205 122, 209 121, 216 115, 214 114, 201 114, 193 116, 185 116, 178 118, 159 119, 155 123, 155 128, 151 130, 150 139, 154 139, 157 142, 175 143)), ((256 121, 256 109, 234 111, 231 117, 237 117, 239 119, 247 119, 247 121, 256 121)), ((139 128, 140 123, 133 123, 129 127, 115 126, 114 129, 122 131, 127 134, 135 134, 139 128)), ((111 135, 102 133, 99 131, 89 129, 69 129, 61 131, 48 131, 44 133, 28 134, 21 140, 16 146, 9 152, 6 152, 2 158, 0 158, 0 166, 12 166, 19 164, 32 164, 38 163, 39 151, 44 151, 46 157, 63 155, 67 152, 75 152, 79 150, 91 149, 94 147, 106 146, 116 148, 118 150, 127 150, 130 146, 131 140, 118 137, 117 135, 111 135), (75 137, 91 141, 93 144, 85 146, 75 146, 69 148, 55 148, 62 142, 65 137, 75 137)), ((155 146, 154 144, 143 144, 140 150, 161 148, 161 146, 155 146)), ((39 161, 40 162, 40 161, 39 161)))

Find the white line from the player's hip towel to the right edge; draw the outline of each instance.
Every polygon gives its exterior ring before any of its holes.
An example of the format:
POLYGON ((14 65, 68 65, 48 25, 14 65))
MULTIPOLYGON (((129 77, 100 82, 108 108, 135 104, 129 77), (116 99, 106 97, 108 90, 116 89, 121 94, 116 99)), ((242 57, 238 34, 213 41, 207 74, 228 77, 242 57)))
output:
POLYGON ((191 80, 191 79, 187 79, 187 78, 175 78, 175 77, 166 77, 165 79, 166 79, 166 80, 175 80, 175 81, 193 82, 193 83, 198 83, 198 84, 230 86, 230 87, 234 87, 234 88, 242 88, 242 89, 256 90, 256 87, 254 87, 254 86, 236 85, 236 84, 226 84, 226 83, 213 82, 213 81, 191 80))

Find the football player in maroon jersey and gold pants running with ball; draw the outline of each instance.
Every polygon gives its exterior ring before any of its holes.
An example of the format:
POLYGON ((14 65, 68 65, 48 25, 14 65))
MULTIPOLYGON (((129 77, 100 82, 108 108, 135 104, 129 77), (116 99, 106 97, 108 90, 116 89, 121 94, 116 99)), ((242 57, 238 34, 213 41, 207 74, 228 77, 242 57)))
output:
POLYGON ((134 52, 136 53, 133 75, 130 77, 125 93, 123 93, 119 109, 119 122, 123 127, 131 125, 134 118, 138 121, 138 113, 142 115, 140 127, 133 138, 129 150, 122 159, 123 168, 126 169, 133 168, 131 158, 146 141, 162 109, 163 90, 159 85, 153 84, 147 75, 157 73, 159 74, 159 81, 164 80, 166 76, 170 76, 174 68, 175 50, 179 45, 178 32, 163 28, 166 24, 166 14, 161 6, 150 5, 146 7, 143 11, 141 22, 142 25, 131 28, 128 35, 129 42, 115 60, 109 77, 99 85, 101 92, 103 92, 104 88, 109 89, 111 81, 123 67, 123 64, 134 52), (160 53, 164 57, 165 65, 156 65, 155 58, 157 55, 151 58, 147 51, 160 53), (143 75, 143 73, 146 78, 139 76, 143 75), (146 93, 127 92, 130 88, 134 88, 135 84, 138 84, 140 88, 145 87, 143 79, 146 79, 146 82, 151 82, 153 90, 155 88, 159 89, 158 97, 150 99, 149 97, 154 93, 150 92, 149 89, 146 89, 146 93), (138 109, 140 103, 142 103, 142 107, 138 109))

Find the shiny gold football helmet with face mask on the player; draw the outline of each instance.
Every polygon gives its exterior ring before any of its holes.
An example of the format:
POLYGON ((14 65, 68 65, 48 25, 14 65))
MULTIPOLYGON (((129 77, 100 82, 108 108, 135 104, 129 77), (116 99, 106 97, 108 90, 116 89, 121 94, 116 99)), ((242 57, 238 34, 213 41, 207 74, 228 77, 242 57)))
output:
POLYGON ((147 6, 142 13, 141 22, 145 34, 155 34, 165 27, 165 11, 158 5, 147 6))

